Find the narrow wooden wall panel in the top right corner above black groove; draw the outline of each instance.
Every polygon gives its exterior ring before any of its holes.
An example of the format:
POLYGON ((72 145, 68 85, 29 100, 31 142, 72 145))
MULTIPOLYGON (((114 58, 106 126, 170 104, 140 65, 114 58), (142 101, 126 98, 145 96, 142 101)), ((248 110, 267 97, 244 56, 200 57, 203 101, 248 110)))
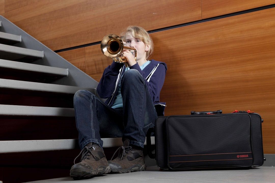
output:
POLYGON ((275 4, 275 0, 201 0, 202 19, 210 18, 228 13, 239 12, 270 4, 275 4))

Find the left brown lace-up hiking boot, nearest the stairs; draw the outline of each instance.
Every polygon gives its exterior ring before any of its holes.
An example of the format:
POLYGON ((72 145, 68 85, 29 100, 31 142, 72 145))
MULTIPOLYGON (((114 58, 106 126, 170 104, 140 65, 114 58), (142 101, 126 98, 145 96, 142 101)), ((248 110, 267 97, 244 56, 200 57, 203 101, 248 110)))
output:
POLYGON ((95 143, 88 143, 75 158, 70 170, 73 179, 90 178, 110 172, 107 159, 101 147, 95 143), (75 164, 76 158, 82 153, 80 163, 75 164))

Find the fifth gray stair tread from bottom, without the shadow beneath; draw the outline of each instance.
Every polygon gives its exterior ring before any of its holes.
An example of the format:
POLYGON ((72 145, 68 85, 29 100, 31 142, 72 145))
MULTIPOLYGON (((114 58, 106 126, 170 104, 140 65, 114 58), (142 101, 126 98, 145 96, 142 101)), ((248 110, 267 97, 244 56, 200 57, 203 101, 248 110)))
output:
POLYGON ((6 45, 6 44, 0 44, 0 51, 13 53, 13 54, 38 57, 38 58, 43 58, 43 55, 44 55, 43 51, 21 48, 21 47, 17 47, 17 46, 10 46, 10 45, 6 45))

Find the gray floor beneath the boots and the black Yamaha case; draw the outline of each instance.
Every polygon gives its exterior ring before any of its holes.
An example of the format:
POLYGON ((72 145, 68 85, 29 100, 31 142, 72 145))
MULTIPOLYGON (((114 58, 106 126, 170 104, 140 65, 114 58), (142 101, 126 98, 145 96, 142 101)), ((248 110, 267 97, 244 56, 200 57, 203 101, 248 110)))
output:
MULTIPOLYGON (((57 179, 48 179, 34 181, 35 183, 56 183, 71 182, 70 177, 57 179)), ((34 183, 33 182, 33 183, 34 183)), ((160 171, 158 167, 147 167, 146 171, 123 173, 123 174, 105 174, 103 176, 93 177, 84 180, 75 180, 73 183, 83 182, 119 182, 119 183, 246 183, 275 182, 275 167, 257 167, 249 170, 199 170, 199 171, 160 171)), ((31 182, 29 182, 31 183, 31 182)))

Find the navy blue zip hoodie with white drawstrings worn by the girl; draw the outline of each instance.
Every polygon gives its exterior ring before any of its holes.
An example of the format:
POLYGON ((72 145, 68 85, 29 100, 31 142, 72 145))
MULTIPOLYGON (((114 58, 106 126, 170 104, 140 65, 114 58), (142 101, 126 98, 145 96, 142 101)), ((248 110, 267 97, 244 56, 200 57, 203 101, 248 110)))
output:
MULTIPOLYGON (((130 69, 138 70, 145 78, 154 105, 165 106, 164 102, 160 102, 160 91, 166 75, 166 64, 164 62, 151 60, 151 63, 142 71, 138 63, 130 66, 130 69)), ((114 103, 115 96, 117 95, 117 85, 119 84, 124 72, 124 64, 113 62, 110 66, 106 67, 98 83, 97 93, 101 98, 108 98, 105 103, 109 106, 112 106, 114 103)))

